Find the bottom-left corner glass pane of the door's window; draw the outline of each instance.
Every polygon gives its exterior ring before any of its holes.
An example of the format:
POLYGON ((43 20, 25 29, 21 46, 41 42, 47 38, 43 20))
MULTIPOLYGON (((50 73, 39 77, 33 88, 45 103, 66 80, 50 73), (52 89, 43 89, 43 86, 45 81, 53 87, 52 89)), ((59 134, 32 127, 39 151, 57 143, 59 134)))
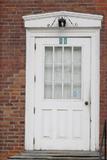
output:
POLYGON ((45 84, 44 97, 45 98, 52 98, 52 85, 45 84))

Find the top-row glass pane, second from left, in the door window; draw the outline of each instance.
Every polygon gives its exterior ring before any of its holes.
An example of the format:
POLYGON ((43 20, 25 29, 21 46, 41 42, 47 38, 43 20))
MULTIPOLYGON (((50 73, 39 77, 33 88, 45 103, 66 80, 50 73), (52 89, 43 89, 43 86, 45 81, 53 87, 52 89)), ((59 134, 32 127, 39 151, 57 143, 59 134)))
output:
POLYGON ((54 63, 62 64, 62 47, 55 47, 54 63))

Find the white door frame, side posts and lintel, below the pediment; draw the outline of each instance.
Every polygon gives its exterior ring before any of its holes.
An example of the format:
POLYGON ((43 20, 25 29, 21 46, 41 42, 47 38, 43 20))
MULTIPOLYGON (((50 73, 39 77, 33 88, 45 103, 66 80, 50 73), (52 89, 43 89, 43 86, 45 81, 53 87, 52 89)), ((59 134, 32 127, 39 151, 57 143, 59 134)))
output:
MULTIPOLYGON (((82 17, 83 18, 83 17, 82 17)), ((100 21, 101 21, 100 17, 100 21)), ((96 20, 95 20, 96 21, 96 20)), ((27 27, 27 23, 25 26, 27 27)), ((97 24, 97 23, 96 23, 97 24)), ((32 22, 34 27, 34 21, 32 22)), ((25 149, 33 150, 34 137, 34 54, 37 37, 90 37, 91 40, 91 109, 90 109, 90 150, 99 149, 99 101, 100 101, 100 27, 65 28, 32 28, 26 29, 26 105, 25 105, 25 149)))

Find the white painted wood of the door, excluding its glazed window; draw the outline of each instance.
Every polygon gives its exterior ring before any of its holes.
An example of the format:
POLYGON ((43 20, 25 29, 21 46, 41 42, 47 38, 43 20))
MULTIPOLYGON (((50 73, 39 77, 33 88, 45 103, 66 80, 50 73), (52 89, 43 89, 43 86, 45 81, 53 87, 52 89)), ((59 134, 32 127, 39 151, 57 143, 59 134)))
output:
POLYGON ((81 99, 44 99, 44 47, 58 46, 59 38, 37 38, 36 44, 34 149, 89 150, 90 38, 69 37, 65 45, 82 49, 81 99))

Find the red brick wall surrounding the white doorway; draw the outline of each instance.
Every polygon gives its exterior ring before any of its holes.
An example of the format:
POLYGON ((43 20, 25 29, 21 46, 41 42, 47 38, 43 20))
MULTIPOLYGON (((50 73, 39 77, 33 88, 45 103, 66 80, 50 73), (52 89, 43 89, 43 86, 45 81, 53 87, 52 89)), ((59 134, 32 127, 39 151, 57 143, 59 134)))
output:
POLYGON ((107 117, 107 0, 0 0, 0 157, 24 150, 23 15, 67 10, 104 15, 101 30, 100 130, 107 117))

